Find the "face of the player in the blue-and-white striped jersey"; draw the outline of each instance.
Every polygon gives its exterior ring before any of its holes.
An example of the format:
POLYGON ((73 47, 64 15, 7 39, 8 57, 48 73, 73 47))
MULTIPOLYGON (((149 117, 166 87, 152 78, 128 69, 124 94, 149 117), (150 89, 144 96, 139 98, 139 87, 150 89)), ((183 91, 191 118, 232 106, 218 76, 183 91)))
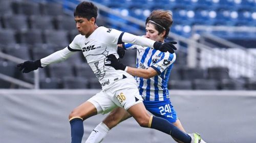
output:
POLYGON ((154 41, 164 41, 164 35, 159 34, 159 32, 156 30, 155 25, 152 23, 146 24, 146 38, 149 38, 154 41))

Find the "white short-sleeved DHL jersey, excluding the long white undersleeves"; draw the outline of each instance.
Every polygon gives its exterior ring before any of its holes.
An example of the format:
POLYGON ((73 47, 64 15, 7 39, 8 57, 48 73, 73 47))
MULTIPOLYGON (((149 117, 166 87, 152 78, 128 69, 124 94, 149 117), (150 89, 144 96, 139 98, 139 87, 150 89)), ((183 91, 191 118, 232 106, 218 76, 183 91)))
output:
POLYGON ((132 76, 122 70, 115 70, 111 66, 104 65, 108 62, 105 61, 106 56, 110 54, 115 54, 119 58, 117 42, 121 33, 121 31, 100 26, 88 38, 77 35, 68 47, 70 51, 82 51, 102 89, 107 88, 112 82, 122 79, 123 76, 132 76))

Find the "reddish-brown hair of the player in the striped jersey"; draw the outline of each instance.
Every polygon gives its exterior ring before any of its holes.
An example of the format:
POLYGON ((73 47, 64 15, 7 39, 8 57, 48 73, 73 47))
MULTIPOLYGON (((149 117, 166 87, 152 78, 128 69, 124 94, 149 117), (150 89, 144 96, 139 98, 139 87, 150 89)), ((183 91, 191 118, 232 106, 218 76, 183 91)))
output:
POLYGON ((170 31, 170 26, 173 24, 173 15, 172 13, 164 10, 154 10, 150 16, 146 18, 146 23, 152 23, 155 25, 156 30, 159 32, 159 35, 165 32, 164 38, 166 38, 170 31))

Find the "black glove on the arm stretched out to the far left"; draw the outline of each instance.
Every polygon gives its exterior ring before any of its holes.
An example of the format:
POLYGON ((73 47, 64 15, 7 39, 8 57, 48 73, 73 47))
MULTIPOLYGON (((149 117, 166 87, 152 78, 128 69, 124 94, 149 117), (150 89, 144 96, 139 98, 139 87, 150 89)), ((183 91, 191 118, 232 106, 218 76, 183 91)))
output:
POLYGON ((17 67, 23 73, 28 73, 38 68, 42 68, 40 60, 37 61, 26 61, 22 64, 18 64, 17 67), (23 70, 24 69, 24 70, 23 70))

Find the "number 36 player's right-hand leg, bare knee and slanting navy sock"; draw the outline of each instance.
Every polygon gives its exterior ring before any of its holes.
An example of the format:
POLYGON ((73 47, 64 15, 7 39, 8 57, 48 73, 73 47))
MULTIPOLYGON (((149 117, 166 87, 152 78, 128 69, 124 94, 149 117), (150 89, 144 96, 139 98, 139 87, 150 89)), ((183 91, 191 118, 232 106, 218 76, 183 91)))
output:
POLYGON ((171 135, 173 138, 182 141, 184 143, 190 143, 191 137, 182 132, 179 128, 169 123, 167 120, 150 116, 143 103, 137 103, 131 106, 127 111, 134 117, 141 127, 153 128, 171 135))

